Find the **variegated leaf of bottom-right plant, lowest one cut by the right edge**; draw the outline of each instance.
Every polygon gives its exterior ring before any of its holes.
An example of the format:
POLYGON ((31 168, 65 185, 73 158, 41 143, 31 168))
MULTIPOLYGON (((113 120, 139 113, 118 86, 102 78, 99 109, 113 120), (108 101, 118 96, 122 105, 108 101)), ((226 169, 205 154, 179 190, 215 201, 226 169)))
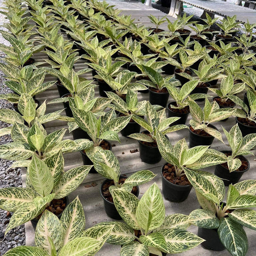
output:
POLYGON ((229 213, 228 216, 242 226, 256 230, 256 211, 252 209, 238 209, 229 213))

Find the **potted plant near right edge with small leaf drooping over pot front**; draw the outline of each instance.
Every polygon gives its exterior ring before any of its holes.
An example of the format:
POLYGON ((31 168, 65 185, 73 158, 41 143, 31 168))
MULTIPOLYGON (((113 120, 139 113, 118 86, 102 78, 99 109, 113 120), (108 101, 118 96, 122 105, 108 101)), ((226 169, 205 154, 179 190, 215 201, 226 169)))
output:
POLYGON ((244 155, 252 154, 250 150, 256 145, 256 134, 243 137, 238 124, 234 125, 230 132, 222 129, 231 151, 221 151, 227 156, 227 163, 216 165, 214 174, 223 179, 225 186, 229 186, 231 183, 237 183, 244 172, 249 170, 250 163, 244 155))

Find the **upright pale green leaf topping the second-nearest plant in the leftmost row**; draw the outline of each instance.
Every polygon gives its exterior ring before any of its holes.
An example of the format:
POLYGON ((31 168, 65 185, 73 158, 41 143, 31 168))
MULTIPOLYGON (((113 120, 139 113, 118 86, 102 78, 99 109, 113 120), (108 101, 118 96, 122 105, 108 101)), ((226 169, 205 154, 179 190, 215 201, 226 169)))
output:
POLYGON ((53 178, 48 166, 35 155, 28 167, 29 180, 41 196, 49 195, 53 189, 53 178))

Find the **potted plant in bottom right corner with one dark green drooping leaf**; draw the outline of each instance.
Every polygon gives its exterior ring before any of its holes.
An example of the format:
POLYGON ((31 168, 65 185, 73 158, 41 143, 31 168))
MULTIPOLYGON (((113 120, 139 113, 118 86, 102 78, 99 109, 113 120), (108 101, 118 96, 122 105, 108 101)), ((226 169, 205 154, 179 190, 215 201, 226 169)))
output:
POLYGON ((244 180, 230 184, 227 203, 223 203, 223 181, 203 177, 201 189, 198 187, 196 191, 202 209, 196 209, 189 215, 190 223, 198 226, 198 236, 206 240, 202 245, 212 250, 226 248, 233 256, 246 255, 248 241, 243 226, 255 229, 255 211, 248 209, 256 205, 255 191, 252 189, 255 182, 244 180))

